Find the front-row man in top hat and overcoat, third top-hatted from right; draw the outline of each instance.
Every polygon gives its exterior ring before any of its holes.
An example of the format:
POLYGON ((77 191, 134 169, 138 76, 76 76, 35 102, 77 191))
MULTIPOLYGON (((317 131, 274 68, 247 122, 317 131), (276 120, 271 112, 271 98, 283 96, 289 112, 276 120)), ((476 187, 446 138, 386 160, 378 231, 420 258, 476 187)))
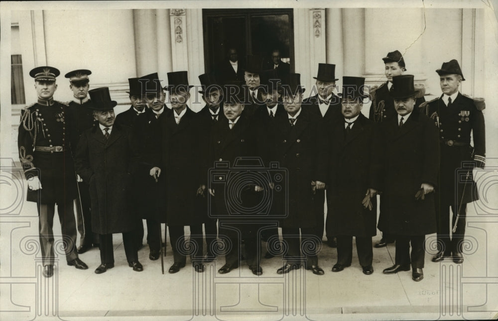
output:
POLYGON ((316 177, 319 161, 317 127, 320 119, 309 109, 301 108, 304 88, 301 87, 300 76, 291 73, 282 80, 282 101, 287 114, 277 119, 272 149, 272 160, 278 160, 280 167, 287 168, 289 182, 289 213, 280 222, 287 251, 284 253, 284 264, 277 273, 299 269, 302 248, 306 269, 316 275, 323 275, 323 270, 318 266, 317 246, 320 239, 316 236, 317 218, 314 213, 310 213, 313 192, 317 188, 325 188, 325 178, 316 177))

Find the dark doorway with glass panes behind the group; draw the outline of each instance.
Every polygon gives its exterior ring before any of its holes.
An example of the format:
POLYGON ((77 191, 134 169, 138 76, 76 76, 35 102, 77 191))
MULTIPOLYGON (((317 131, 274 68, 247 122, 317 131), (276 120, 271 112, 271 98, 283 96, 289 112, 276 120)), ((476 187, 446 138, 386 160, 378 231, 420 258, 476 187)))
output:
POLYGON ((212 72, 235 47, 239 61, 260 55, 270 62, 273 49, 294 72, 293 9, 203 9, 204 66, 212 72))

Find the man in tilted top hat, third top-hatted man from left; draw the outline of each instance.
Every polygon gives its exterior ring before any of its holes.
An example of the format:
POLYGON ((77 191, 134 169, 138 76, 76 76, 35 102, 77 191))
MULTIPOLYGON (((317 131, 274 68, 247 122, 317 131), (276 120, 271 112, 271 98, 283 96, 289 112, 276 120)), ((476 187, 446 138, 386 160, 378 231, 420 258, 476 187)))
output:
MULTIPOLYGON (((150 169, 156 166, 161 157, 160 121, 171 110, 164 105, 165 95, 157 73, 142 76, 143 96, 151 112, 142 112, 132 123, 133 138, 139 154, 138 167, 134 174, 134 206, 138 216, 146 220, 149 259, 157 260, 161 250, 161 223, 166 222, 164 211, 164 177, 153 177, 150 169)), ((137 243, 142 244, 143 222, 138 224, 137 243)))

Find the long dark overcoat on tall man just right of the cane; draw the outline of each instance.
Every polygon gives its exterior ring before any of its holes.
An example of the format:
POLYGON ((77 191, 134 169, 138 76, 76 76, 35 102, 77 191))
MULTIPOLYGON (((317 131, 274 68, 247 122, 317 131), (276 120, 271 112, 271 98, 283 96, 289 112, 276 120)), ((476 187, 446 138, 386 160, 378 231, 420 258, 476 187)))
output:
POLYGON ((200 186, 199 118, 189 107, 177 124, 175 111, 161 119, 161 176, 166 178, 166 213, 170 226, 196 223, 195 198, 200 186))

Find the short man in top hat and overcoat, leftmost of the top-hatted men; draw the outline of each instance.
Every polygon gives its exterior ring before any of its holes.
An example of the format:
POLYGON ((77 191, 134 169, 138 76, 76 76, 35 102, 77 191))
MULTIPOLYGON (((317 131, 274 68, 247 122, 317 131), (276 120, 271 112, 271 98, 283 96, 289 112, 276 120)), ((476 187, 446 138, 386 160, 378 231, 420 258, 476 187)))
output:
POLYGON ((114 267, 113 233, 123 233, 124 252, 133 271, 143 270, 138 261, 134 230, 138 218, 130 209, 132 174, 136 151, 129 127, 115 123, 114 107, 108 87, 90 90, 98 126, 83 132, 76 150, 77 173, 90 185, 92 230, 99 234, 100 274, 114 267))

